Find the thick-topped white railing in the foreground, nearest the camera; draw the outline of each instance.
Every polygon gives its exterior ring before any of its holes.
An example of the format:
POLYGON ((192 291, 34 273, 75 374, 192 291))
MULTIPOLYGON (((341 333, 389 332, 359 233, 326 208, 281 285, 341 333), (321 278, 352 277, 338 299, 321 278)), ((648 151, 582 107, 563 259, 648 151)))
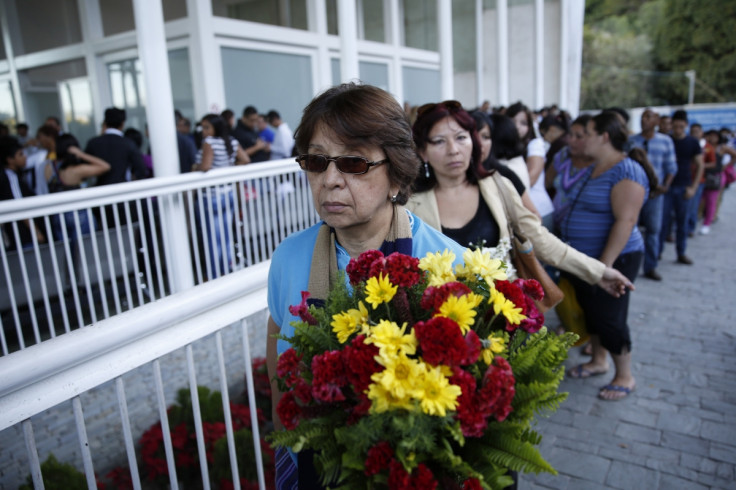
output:
MULTIPOLYGON (((234 272, 1 357, 0 462, 3 471, 0 472, 0 482, 5 480, 4 488, 17 488, 17 482, 23 481, 26 474, 31 475, 34 488, 44 488, 42 455, 49 453, 53 444, 58 444, 62 439, 58 432, 68 427, 67 424, 74 424, 76 444, 73 445, 80 451, 90 489, 96 488, 95 470, 105 470, 95 468, 93 459, 102 457, 97 453, 111 451, 121 453, 121 458, 122 453, 125 453, 133 487, 140 489, 140 448, 136 448, 134 443, 140 437, 140 429, 136 431, 133 428, 140 424, 136 424, 136 415, 131 416, 132 411, 136 411, 138 417, 142 411, 150 412, 149 418, 151 413, 158 412, 170 485, 172 489, 178 488, 167 403, 179 387, 172 382, 172 378, 177 374, 183 376, 183 373, 186 373, 194 412, 202 485, 205 489, 210 488, 211 468, 204 454, 205 436, 197 394, 198 382, 202 383, 202 379, 198 380, 198 373, 208 368, 215 372, 211 382, 219 384, 222 393, 232 481, 235 488, 240 488, 236 461, 237 452, 243 448, 237 448, 235 444, 228 394, 233 373, 228 373, 227 367, 234 365, 235 379, 240 379, 238 376, 246 373, 258 482, 260 488, 265 489, 251 371, 251 342, 258 344, 257 349, 263 347, 266 325, 265 317, 258 324, 248 324, 246 317, 262 313, 266 308, 268 267, 269 262, 253 265, 247 270, 234 272), (258 335, 261 335, 260 340, 252 340, 258 335), (226 341, 223 341, 224 336, 228 336, 226 341), (233 336, 241 338, 242 342, 233 342, 233 336), (228 349, 230 352, 226 352, 228 349), (179 364, 171 360, 176 353, 180 354, 179 364), (212 356, 216 359, 214 366, 211 365, 212 356), (168 375, 162 375, 162 372, 168 375), (150 381, 143 381, 144 374, 153 378, 154 388, 151 388, 150 381), (85 409, 100 411, 99 401, 93 399, 87 405, 84 402, 92 391, 102 389, 106 384, 111 386, 109 382, 114 384, 117 410, 111 409, 103 416, 115 418, 117 412, 118 420, 104 424, 99 420, 90 423, 85 417, 85 409), (153 392, 155 402, 146 404, 153 392), (54 410, 53 407, 58 408, 70 402, 73 414, 67 414, 66 422, 63 416, 49 415, 49 409, 54 410), (54 419, 51 425, 55 429, 46 427, 48 418, 54 419), (34 431, 36 424, 45 427, 38 437, 34 431), (119 432, 117 440, 123 444, 100 442, 102 426, 116 427, 119 432), (23 444, 28 466, 23 474, 13 474, 14 468, 7 461, 8 458, 19 458, 23 444), (93 451, 92 448, 97 449, 93 451), (13 483, 15 486, 10 486, 13 483)), ((56 449, 64 450, 59 447, 56 449)), ((15 468, 15 471, 19 470, 15 468)))

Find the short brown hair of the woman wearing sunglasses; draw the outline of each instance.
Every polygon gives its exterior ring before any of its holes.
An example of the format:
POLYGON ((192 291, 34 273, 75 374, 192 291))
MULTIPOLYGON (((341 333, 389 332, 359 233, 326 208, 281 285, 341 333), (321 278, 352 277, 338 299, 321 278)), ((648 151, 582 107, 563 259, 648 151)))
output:
POLYGON ((304 108, 294 133, 295 147, 307 153, 317 128, 329 129, 345 146, 379 147, 388 159, 388 178, 398 184, 398 204, 406 204, 419 172, 419 157, 404 109, 378 87, 343 83, 315 97, 304 108))

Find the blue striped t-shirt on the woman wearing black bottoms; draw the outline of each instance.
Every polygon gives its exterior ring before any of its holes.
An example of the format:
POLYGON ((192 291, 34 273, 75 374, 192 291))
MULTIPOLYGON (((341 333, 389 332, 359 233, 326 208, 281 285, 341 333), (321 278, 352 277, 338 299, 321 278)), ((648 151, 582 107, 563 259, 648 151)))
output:
MULTIPOLYGON (((572 196, 574 204, 562 223, 562 238, 572 247, 599 258, 608 242, 608 235, 615 221, 611 208, 611 190, 622 180, 633 180, 649 194, 649 180, 642 166, 630 158, 624 158, 595 179, 589 178, 572 196)), ((639 228, 634 226, 621 254, 644 250, 639 228)))

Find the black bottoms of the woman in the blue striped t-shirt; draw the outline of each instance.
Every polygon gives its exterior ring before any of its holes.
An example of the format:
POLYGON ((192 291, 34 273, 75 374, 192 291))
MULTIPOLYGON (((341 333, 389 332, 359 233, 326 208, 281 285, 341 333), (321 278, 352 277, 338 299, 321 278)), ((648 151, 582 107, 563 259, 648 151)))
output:
MULTIPOLYGON (((613 268, 634 282, 643 259, 644 252, 619 255, 613 263, 613 268)), ((563 274, 575 288, 588 333, 600 336, 601 345, 611 354, 631 352, 631 335, 626 321, 629 316, 631 293, 627 292, 620 298, 614 298, 598 286, 591 286, 566 272, 563 274)))

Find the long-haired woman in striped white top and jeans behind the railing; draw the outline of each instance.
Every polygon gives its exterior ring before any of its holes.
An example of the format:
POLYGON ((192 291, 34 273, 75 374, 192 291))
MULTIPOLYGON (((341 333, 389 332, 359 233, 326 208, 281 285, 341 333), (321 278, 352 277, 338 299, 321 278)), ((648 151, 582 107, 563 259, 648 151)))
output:
MULTIPOLYGON (((202 148, 197 154, 193 170, 207 172, 235 164, 250 163, 248 154, 238 140, 230 136, 227 122, 219 114, 207 114, 200 122, 202 148)), ((232 229, 235 197, 229 185, 215 186, 202 191, 204 225, 208 238, 210 277, 220 277, 232 268, 232 229)))

